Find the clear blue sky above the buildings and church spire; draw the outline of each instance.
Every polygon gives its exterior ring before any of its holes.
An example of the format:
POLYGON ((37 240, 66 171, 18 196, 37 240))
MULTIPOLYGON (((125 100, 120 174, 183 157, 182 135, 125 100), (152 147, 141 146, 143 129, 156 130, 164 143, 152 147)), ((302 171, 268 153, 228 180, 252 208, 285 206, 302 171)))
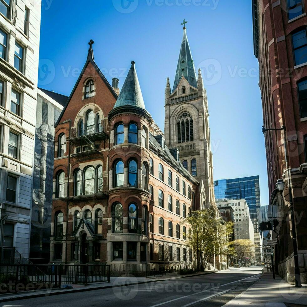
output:
POLYGON ((39 86, 68 96, 93 39, 95 61, 110 83, 118 77, 121 87, 136 62, 146 108, 163 129, 166 78, 172 87, 186 19, 195 68, 207 89, 214 179, 259 175, 267 205, 251 2, 42 0, 39 86))

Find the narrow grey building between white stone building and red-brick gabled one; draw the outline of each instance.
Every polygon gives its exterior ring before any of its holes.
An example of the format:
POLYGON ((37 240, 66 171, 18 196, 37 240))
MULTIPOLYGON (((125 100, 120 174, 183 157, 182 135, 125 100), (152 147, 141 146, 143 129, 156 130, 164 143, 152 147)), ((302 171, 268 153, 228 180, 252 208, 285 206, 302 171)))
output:
POLYGON ((68 97, 38 89, 34 148, 34 175, 30 261, 49 263, 53 191, 54 125, 68 97))

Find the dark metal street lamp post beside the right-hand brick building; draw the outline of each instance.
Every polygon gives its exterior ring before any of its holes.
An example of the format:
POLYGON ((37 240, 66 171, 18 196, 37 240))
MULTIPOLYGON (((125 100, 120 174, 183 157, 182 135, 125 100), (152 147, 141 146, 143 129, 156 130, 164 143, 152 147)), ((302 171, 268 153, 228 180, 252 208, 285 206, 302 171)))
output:
MULTIPOLYGON (((281 128, 270 128, 266 129, 264 126, 262 126, 262 132, 263 134, 267 131, 284 131, 286 133, 286 127, 282 126, 281 128)), ((287 161, 287 151, 286 151, 286 144, 284 143, 284 151, 285 151, 285 158, 287 161)), ((299 259, 298 259, 298 249, 297 249, 297 242, 296 242, 296 229, 295 229, 295 219, 294 219, 294 206, 293 206, 293 200, 292 200, 292 187, 291 187, 291 174, 290 169, 288 167, 288 189, 289 189, 289 205, 290 205, 290 214, 291 214, 291 224, 292 224, 292 243, 293 243, 293 256, 294 256, 294 276, 295 276, 295 287, 301 288, 301 278, 299 273, 299 259)), ((276 182, 276 188, 280 193, 284 191, 284 180, 278 179, 276 182)), ((273 222, 272 222, 272 228, 273 228, 273 222)), ((273 229, 272 229, 273 230, 273 229)))

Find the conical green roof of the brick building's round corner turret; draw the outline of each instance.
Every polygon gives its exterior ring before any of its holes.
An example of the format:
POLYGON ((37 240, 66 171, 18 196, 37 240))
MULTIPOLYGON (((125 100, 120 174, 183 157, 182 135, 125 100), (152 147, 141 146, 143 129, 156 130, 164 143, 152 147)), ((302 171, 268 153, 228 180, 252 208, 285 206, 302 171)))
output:
POLYGON ((131 62, 129 73, 113 109, 123 106, 134 106, 145 110, 143 95, 138 82, 138 75, 135 70, 134 61, 131 62))

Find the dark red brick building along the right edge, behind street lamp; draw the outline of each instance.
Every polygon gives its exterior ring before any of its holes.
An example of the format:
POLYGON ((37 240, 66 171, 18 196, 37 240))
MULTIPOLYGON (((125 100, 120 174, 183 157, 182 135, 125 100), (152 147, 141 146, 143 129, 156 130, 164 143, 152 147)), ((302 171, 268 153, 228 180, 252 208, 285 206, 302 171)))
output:
POLYGON ((293 227, 298 267, 306 283, 307 256, 307 34, 305 1, 253 0, 254 53, 260 66, 260 89, 270 206, 278 225, 273 232, 278 273, 294 282, 293 227), (282 130, 275 130, 281 129, 282 130), (276 182, 282 179, 279 193, 276 182), (290 192, 290 193, 289 193, 290 192), (290 196, 290 197, 289 197, 290 196), (295 223, 291 221, 291 196, 295 223))

